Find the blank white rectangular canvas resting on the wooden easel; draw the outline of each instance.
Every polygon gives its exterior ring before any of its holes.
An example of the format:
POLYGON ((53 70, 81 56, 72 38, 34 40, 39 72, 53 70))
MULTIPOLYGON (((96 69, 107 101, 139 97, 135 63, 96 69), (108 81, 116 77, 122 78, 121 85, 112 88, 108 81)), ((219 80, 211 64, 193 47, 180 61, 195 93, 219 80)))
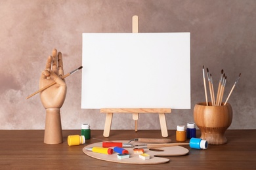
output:
POLYGON ((82 109, 190 109, 190 33, 83 33, 82 109))

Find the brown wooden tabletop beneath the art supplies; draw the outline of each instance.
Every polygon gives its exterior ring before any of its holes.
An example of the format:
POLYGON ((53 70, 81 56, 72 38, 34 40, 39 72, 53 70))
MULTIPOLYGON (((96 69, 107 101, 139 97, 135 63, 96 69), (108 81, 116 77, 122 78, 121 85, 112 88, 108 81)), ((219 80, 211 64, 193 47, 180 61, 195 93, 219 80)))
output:
MULTIPOLYGON (((169 130, 175 141, 175 130, 169 130)), ((79 135, 80 130, 63 130, 63 143, 44 144, 43 130, 0 130, 0 169, 256 169, 256 129, 227 130, 227 144, 209 145, 206 150, 189 146, 186 156, 167 156, 170 161, 156 165, 113 163, 97 160, 83 153, 87 144, 68 146, 68 135, 79 135)), ((103 130, 91 130, 91 137, 106 140, 127 140, 139 137, 161 138, 160 130, 112 130, 103 137, 103 130)), ((200 137, 200 131, 197 131, 200 137)), ((189 141, 187 141, 189 142, 189 141)))

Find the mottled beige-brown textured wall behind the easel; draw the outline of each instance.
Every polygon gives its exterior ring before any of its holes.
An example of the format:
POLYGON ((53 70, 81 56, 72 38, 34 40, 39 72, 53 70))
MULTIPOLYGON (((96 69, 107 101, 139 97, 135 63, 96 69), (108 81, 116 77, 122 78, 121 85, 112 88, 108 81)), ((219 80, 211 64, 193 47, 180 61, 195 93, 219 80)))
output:
MULTIPOLYGON (((256 1, 254 0, 2 0, 0 2, 0 129, 44 129, 45 109, 39 88, 47 56, 57 48, 64 71, 81 65, 82 33, 129 33, 139 15, 139 31, 191 33, 191 106, 167 114, 168 129, 192 122, 195 103, 204 101, 202 65, 215 84, 221 69, 228 77, 227 93, 242 73, 229 103, 230 129, 255 129, 256 1)), ((173 65, 175 63, 170 63, 173 65)), ((81 109, 81 71, 66 79, 62 129, 104 129, 105 114, 81 109)), ((217 88, 217 85, 215 85, 217 88)), ((130 114, 114 115, 112 129, 133 129, 130 114)), ((140 115, 139 129, 160 129, 158 116, 140 115)))

